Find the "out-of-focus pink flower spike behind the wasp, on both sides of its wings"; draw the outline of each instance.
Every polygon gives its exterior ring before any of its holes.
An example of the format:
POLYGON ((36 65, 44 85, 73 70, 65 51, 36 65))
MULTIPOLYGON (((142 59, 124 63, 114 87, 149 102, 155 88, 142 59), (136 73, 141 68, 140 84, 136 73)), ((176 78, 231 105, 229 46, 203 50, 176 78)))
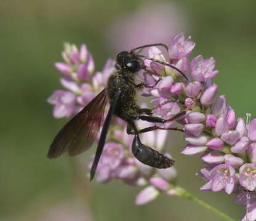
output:
MULTIPOLYGON (((60 83, 65 90, 54 91, 48 99, 48 102, 54 105, 53 114, 56 118, 77 114, 106 86, 108 77, 115 69, 114 61, 109 59, 102 72, 94 73, 94 61, 86 45, 81 45, 78 50, 75 45, 66 44, 62 56, 65 63, 55 63, 55 68, 64 76, 60 83)), ((146 108, 146 104, 142 104, 142 107, 146 108)), ((115 126, 108 132, 108 139, 98 163, 97 181, 106 183, 112 179, 119 179, 129 185, 150 184, 136 198, 137 204, 145 204, 156 198, 161 190, 167 192, 169 182, 177 176, 177 172, 174 168, 155 169, 140 163, 132 155, 131 145, 134 136, 126 133, 126 122, 119 118, 115 120, 115 126), (148 188, 154 191, 148 194, 148 188)), ((139 129, 148 126, 153 124, 142 120, 137 122, 139 129)), ((160 130, 140 135, 143 144, 160 152, 165 152, 163 145, 166 137, 167 131, 160 130)), ((91 165, 92 162, 89 168, 91 165)))

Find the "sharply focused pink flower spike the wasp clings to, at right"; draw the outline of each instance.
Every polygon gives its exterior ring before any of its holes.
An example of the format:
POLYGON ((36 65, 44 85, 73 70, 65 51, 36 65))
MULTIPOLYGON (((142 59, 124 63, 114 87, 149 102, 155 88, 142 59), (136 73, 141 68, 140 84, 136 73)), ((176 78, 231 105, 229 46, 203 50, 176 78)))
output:
MULTIPOLYGON (((144 96, 154 96, 151 104, 154 115, 168 119, 186 110, 177 123, 183 125, 187 142, 182 153, 201 153, 206 165, 201 174, 207 183, 201 190, 235 193, 235 203, 246 204, 247 213, 242 220, 256 219, 255 197, 244 201, 244 195, 255 196, 256 188, 256 119, 237 118, 226 103, 225 96, 216 98, 218 86, 212 84, 212 77, 218 74, 214 58, 204 59, 202 55, 191 60, 195 44, 185 40, 184 34, 175 36, 169 46, 170 60, 166 60, 158 48, 150 48, 149 56, 167 61, 182 70, 189 80, 177 71, 145 61, 151 73, 145 72, 145 82, 153 85, 161 76, 155 88, 143 91, 144 96), (215 101, 216 100, 216 101, 215 101)), ((165 128, 173 125, 164 125, 165 128)))

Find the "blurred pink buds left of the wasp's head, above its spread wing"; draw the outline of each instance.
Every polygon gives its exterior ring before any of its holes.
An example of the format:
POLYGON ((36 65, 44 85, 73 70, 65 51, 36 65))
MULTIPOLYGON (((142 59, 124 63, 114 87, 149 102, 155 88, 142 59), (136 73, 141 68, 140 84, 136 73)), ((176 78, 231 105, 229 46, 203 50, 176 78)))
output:
POLYGON ((65 90, 55 90, 47 100, 54 105, 54 117, 70 117, 81 111, 106 85, 114 71, 114 61, 106 61, 102 72, 94 73, 94 60, 86 45, 80 49, 76 45, 65 44, 62 52, 65 63, 55 63, 55 68, 63 74, 60 79, 65 90))

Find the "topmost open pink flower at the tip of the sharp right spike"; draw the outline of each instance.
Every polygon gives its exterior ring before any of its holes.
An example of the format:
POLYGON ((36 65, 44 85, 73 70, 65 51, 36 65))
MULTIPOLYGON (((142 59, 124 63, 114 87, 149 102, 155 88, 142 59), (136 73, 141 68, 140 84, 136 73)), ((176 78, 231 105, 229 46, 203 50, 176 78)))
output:
POLYGON ((172 59, 186 58, 192 53, 192 50, 196 46, 193 41, 189 39, 185 40, 184 33, 174 36, 169 45, 169 55, 172 59))

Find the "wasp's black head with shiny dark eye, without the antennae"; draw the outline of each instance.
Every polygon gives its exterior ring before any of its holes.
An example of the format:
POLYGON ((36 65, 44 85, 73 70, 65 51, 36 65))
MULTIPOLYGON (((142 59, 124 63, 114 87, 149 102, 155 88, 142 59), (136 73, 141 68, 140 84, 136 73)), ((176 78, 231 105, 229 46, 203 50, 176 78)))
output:
POLYGON ((121 66, 121 69, 126 69, 132 73, 140 71, 142 69, 140 60, 129 52, 120 52, 116 58, 117 63, 121 66))

